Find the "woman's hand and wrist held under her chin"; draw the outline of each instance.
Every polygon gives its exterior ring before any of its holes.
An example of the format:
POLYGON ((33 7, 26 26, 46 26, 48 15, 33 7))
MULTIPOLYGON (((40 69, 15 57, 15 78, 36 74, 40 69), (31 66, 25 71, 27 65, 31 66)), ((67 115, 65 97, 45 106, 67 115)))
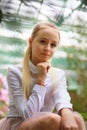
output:
POLYGON ((38 73, 37 73, 36 83, 42 84, 44 86, 44 81, 46 79, 47 72, 50 68, 50 64, 49 62, 41 62, 37 64, 37 68, 38 68, 38 73))

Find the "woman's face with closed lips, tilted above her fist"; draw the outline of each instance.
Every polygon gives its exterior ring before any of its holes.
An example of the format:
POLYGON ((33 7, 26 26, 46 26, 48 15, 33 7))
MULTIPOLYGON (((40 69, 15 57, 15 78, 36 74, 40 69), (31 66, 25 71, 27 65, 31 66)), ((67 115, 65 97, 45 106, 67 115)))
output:
POLYGON ((58 32, 54 28, 47 27, 39 30, 34 39, 29 39, 32 63, 37 65, 40 62, 49 61, 56 51, 58 42, 58 32))

